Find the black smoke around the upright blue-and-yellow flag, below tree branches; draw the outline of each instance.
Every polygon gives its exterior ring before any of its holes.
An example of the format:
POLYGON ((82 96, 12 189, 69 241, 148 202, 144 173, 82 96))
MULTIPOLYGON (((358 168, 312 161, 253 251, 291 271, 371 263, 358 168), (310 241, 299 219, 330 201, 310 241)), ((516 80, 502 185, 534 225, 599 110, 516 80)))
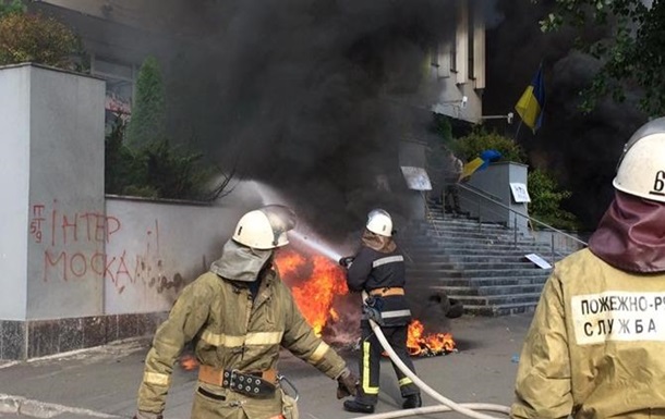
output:
MULTIPOLYGON (((566 209, 593 230, 614 196, 612 180, 622 146, 645 116, 637 109, 637 91, 630 88, 624 103, 605 99, 589 114, 580 111, 580 91, 590 85, 601 62, 580 52, 576 38, 608 37, 610 27, 566 27, 543 34, 539 21, 553 10, 553 3, 498 2, 504 19, 487 33, 483 104, 488 114, 515 112, 515 103, 542 62, 547 95, 543 125, 535 135, 522 126, 517 141, 528 151, 532 168, 554 173, 572 192, 566 209)), ((513 137, 517 126, 509 133, 513 137)))

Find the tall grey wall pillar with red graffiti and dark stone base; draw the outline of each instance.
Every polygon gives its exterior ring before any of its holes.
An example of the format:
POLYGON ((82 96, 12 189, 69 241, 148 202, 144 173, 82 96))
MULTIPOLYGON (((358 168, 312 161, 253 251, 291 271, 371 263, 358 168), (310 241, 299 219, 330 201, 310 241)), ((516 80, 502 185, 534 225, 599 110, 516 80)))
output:
POLYGON ((0 91, 0 358, 25 359, 80 348, 104 311, 105 82, 26 63, 0 91))

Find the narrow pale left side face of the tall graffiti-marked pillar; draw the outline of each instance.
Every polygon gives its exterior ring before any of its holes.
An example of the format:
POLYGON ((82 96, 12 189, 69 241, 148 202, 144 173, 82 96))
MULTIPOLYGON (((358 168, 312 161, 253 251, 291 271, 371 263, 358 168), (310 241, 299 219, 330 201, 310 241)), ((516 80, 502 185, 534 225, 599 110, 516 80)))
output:
POLYGON ((0 70, 0 319, 26 316, 31 67, 0 70))

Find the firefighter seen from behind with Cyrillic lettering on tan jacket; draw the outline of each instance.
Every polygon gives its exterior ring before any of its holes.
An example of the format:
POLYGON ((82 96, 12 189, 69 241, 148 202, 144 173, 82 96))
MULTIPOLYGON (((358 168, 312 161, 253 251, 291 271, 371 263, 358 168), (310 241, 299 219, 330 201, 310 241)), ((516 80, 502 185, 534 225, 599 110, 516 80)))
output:
POLYGON ((589 248, 545 284, 512 418, 665 418, 665 118, 626 144, 613 185, 589 248))

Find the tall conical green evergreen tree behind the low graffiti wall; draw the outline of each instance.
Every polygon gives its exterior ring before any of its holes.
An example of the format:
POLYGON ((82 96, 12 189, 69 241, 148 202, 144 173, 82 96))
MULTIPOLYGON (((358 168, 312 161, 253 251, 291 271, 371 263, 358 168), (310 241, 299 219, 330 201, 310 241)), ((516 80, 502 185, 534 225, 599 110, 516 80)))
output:
POLYGON ((136 97, 126 132, 128 147, 137 150, 165 139, 165 96, 159 61, 155 57, 147 57, 136 79, 136 97))

